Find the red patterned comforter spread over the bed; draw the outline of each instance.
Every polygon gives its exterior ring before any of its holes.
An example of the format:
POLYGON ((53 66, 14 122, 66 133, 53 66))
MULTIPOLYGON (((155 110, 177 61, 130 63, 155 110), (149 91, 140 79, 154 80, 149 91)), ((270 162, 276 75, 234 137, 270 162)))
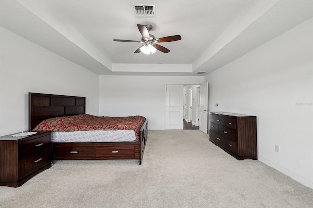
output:
POLYGON ((134 130, 139 141, 139 130, 146 118, 143 116, 107 117, 80 114, 50 118, 39 123, 34 131, 90 131, 134 130))

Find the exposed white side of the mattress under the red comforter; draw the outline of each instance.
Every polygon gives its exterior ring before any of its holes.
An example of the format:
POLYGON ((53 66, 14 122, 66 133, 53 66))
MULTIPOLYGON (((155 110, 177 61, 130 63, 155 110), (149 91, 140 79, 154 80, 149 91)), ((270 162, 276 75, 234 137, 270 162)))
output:
POLYGON ((52 142, 135 142, 134 130, 53 131, 52 142))

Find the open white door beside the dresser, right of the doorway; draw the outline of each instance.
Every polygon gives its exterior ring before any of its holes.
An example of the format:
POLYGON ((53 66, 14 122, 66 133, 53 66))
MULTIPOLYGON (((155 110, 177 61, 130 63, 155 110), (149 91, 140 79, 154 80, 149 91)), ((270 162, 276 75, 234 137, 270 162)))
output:
POLYGON ((199 88, 199 130, 206 134, 208 128, 208 117, 208 83, 202 83, 199 88))

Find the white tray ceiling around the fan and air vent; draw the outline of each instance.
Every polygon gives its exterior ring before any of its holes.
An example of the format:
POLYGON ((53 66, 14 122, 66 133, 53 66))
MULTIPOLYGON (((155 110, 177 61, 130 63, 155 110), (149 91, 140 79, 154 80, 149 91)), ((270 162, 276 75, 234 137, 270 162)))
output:
MULTIPOLYGON (((313 17, 301 0, 1 0, 1 26, 99 75, 210 73, 313 17), (154 4, 137 19, 134 4, 154 4), (137 24, 171 50, 134 54, 137 24), (162 64, 159 64, 162 62, 162 64)), ((205 75, 204 74, 204 75, 205 75)), ((199 74, 203 76, 203 74, 199 74)))

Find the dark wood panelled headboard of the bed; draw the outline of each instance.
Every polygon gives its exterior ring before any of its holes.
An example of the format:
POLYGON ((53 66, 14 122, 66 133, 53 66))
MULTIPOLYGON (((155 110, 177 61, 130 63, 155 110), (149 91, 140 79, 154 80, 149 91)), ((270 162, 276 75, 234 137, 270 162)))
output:
POLYGON ((28 129, 32 130, 41 121, 85 113, 85 97, 50 95, 41 93, 29 94, 29 120, 28 129))

